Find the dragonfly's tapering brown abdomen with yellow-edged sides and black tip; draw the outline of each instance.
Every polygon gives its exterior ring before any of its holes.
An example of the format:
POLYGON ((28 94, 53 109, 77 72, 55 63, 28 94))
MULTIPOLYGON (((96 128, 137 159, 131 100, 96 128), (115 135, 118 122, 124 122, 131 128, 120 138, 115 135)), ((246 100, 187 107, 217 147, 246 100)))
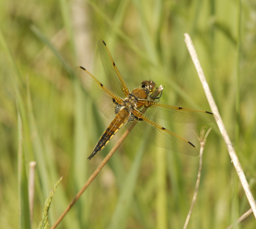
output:
POLYGON ((113 121, 109 124, 107 129, 104 131, 104 133, 101 135, 96 147, 94 148, 91 155, 87 158, 91 160, 91 158, 99 153, 112 139, 112 137, 117 133, 117 131, 120 130, 120 128, 125 124, 130 117, 130 113, 128 109, 123 108, 120 110, 113 121))

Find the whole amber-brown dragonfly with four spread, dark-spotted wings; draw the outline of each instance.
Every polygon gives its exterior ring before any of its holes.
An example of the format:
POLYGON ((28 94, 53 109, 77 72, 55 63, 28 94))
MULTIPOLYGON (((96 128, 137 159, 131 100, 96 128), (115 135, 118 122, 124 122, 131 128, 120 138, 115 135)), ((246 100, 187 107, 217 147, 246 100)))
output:
POLYGON ((112 119, 112 122, 105 129, 87 159, 91 160, 122 126, 133 121, 136 122, 131 130, 133 135, 158 147, 197 156, 198 150, 191 142, 160 126, 147 116, 152 115, 176 123, 211 123, 218 121, 218 117, 209 111, 193 110, 155 101, 154 99, 159 100, 162 91, 159 97, 153 97, 157 87, 152 80, 143 81, 139 88, 130 91, 105 42, 99 40, 98 46, 102 65, 113 92, 82 66, 75 68, 75 74, 92 102, 107 118, 112 119), (147 108, 144 114, 141 112, 143 108, 147 108))

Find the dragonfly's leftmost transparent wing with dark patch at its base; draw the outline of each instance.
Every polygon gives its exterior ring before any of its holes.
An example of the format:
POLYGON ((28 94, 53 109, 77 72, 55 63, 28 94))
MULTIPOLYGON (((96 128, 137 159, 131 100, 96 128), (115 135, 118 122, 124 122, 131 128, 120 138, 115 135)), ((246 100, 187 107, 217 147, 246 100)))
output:
POLYGON ((91 73, 81 66, 75 68, 75 74, 92 102, 107 118, 115 117, 115 103, 122 99, 104 87, 91 73))

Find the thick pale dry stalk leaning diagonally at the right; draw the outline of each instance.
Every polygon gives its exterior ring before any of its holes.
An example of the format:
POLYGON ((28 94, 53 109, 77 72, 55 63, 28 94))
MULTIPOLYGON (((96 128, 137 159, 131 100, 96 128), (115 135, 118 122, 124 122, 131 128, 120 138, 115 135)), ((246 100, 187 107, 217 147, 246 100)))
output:
POLYGON ((233 147, 233 145, 230 141, 230 138, 227 134, 224 123, 223 123, 223 121, 220 117, 219 110, 218 110, 218 108, 217 108, 217 106, 214 102, 213 97, 212 97, 212 93, 210 91, 209 85, 207 84, 206 78, 204 76, 203 69, 201 68, 201 65, 199 63, 199 60, 198 60, 198 57, 197 57, 197 54, 196 54, 196 50, 194 49, 194 45, 193 45, 193 42, 190 38, 190 35, 188 35, 188 34, 184 34, 184 35, 185 35, 185 42, 186 42, 186 45, 187 45, 187 48, 188 48, 188 52, 190 53, 190 56, 191 56, 191 58, 193 60, 193 63, 194 63, 194 66, 196 67, 196 71, 197 71, 199 79, 200 79, 200 81, 203 85, 203 89, 204 89, 204 92, 206 94, 209 105, 211 107, 211 110, 214 114, 216 114, 219 117, 219 121, 217 121, 217 124, 219 126, 222 137, 224 138, 224 141, 225 141, 227 149, 228 149, 228 153, 229 153, 230 158, 233 162, 233 165, 235 166, 235 169, 237 171, 237 174, 238 174, 238 177, 241 181, 243 189, 245 190, 246 197, 247 197, 247 199, 248 199, 248 201, 251 205, 251 208, 253 210, 254 217, 256 218, 256 203, 254 202, 253 195, 251 194, 249 184, 246 180, 245 174, 243 173, 243 169, 242 169, 241 164, 238 160, 237 154, 235 152, 235 148, 233 147))

